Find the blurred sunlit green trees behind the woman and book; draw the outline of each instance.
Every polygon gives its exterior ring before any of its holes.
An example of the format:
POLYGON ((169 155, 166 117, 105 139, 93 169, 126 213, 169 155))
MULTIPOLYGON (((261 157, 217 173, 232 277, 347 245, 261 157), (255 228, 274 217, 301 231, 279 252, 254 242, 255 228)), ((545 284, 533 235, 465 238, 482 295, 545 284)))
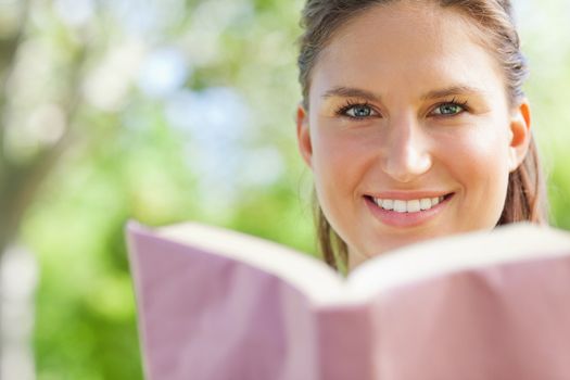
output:
MULTIPOLYGON (((570 2, 516 0, 553 224, 570 229, 570 2)), ((124 225, 314 253, 302 0, 0 0, 0 378, 141 379, 124 225)))

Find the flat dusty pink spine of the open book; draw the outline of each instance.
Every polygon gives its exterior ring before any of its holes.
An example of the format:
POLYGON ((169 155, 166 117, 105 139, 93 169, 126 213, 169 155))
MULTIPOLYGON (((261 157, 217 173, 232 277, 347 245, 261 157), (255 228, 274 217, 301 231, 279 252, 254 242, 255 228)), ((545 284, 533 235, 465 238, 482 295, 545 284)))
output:
POLYGON ((327 307, 317 312, 319 379, 373 378, 370 306, 327 307))

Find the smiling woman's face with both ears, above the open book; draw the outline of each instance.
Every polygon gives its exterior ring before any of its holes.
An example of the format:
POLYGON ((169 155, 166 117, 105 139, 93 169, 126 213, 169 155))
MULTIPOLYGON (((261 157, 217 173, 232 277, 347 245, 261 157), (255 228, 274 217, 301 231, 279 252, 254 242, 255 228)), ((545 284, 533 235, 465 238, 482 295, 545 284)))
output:
POLYGON ((530 138, 528 104, 509 107, 504 84, 476 26, 451 9, 398 1, 337 30, 297 135, 351 268, 496 225, 530 138))

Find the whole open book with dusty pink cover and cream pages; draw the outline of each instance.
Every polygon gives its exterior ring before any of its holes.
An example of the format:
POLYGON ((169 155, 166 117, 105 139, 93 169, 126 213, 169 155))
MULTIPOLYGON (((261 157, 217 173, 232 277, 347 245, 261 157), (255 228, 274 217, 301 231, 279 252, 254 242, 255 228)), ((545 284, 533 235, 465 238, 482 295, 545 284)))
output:
POLYGON ((126 230, 147 379, 570 379, 568 232, 434 239, 344 278, 220 228, 126 230))

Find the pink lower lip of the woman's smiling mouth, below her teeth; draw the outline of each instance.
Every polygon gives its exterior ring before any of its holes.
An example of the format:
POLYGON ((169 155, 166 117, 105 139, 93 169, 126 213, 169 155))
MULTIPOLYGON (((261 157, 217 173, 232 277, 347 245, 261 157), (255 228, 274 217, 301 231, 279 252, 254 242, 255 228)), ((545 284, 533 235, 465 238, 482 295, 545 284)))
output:
POLYGON ((379 207, 372 199, 368 197, 365 197, 365 202, 372 215, 384 225, 397 228, 410 228, 433 219, 447 206, 452 198, 453 194, 446 195, 436 206, 417 213, 398 213, 393 210, 384 210, 379 207))

